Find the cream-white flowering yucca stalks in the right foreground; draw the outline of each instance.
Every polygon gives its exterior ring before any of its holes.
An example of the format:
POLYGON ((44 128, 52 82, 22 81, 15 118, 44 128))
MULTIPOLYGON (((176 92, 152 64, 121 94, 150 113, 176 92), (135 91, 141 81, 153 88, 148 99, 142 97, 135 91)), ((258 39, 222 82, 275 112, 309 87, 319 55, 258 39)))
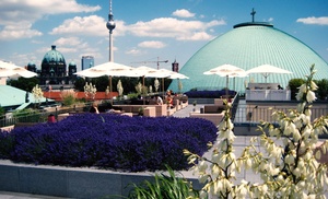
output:
POLYGON ((312 66, 311 74, 298 87, 297 108, 288 113, 274 112, 272 117, 278 124, 262 121, 258 126, 262 134, 251 138, 250 145, 239 157, 233 150, 235 136, 230 119, 231 104, 224 102, 226 110, 218 126, 220 140, 212 157, 209 160, 184 151, 200 183, 206 184, 201 198, 325 198, 327 165, 317 159, 321 152, 326 153, 328 141, 321 144, 321 150, 316 150, 316 144, 318 136, 327 133, 328 117, 311 120, 311 107, 318 89, 313 81, 314 74, 312 66), (263 151, 255 148, 258 142, 263 151), (241 180, 235 185, 235 173, 242 169, 253 169, 262 182, 241 180))

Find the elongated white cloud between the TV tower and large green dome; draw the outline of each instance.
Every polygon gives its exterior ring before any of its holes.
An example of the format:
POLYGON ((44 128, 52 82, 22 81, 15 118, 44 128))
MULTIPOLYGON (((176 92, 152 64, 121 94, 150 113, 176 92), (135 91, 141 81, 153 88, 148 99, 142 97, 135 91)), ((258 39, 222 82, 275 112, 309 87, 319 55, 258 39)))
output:
POLYGON ((224 24, 225 22, 223 20, 213 20, 206 23, 201 21, 160 17, 149 22, 137 22, 136 24, 129 25, 128 30, 132 35, 140 37, 172 37, 176 39, 194 40, 195 33, 204 32, 213 26, 224 24))

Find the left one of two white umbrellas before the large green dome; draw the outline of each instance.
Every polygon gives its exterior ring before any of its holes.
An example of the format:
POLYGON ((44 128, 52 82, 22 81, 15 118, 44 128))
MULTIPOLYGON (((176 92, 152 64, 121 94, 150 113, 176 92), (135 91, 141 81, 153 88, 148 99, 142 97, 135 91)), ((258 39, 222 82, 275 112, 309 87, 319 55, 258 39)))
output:
POLYGON ((244 69, 241 69, 238 67, 232 66, 232 65, 222 65, 219 67, 215 67, 209 71, 203 72, 203 74, 218 74, 220 77, 226 77, 226 86, 225 86, 225 94, 227 95, 227 86, 229 86, 229 78, 234 77, 246 77, 247 73, 244 69))

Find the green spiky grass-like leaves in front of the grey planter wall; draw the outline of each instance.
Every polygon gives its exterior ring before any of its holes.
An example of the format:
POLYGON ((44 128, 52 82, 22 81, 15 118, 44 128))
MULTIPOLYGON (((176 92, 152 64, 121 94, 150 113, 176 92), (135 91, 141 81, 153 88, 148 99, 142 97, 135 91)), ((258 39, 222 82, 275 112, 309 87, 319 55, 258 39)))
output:
POLYGON ((130 199, 177 199, 198 198, 198 190, 192 188, 191 182, 176 176, 167 167, 168 175, 155 174, 154 182, 144 180, 141 185, 131 184, 133 189, 129 192, 130 199))

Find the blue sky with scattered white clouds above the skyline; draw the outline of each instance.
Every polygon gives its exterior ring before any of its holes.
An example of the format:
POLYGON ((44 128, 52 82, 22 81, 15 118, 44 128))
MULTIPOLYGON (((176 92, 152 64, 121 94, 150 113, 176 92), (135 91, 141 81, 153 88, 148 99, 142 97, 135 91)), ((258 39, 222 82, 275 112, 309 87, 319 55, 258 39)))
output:
MULTIPOLYGON (((327 0, 113 0, 114 61, 181 68, 201 47, 238 23, 270 22, 328 62, 327 0), (168 62, 164 62, 168 60, 168 62)), ((95 65, 109 59, 109 0, 1 0, 0 60, 24 67, 56 45, 67 65, 81 70, 82 56, 95 65)))

